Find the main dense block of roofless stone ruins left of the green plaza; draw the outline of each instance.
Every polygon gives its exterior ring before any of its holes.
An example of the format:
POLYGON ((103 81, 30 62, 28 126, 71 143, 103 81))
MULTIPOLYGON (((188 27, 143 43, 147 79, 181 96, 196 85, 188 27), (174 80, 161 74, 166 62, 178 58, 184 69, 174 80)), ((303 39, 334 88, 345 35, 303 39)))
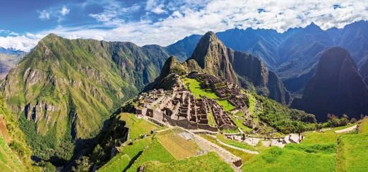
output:
POLYGON ((137 103, 137 116, 149 116, 172 126, 191 130, 218 130, 208 123, 208 102, 196 99, 185 89, 151 90, 139 94, 134 101, 137 103))

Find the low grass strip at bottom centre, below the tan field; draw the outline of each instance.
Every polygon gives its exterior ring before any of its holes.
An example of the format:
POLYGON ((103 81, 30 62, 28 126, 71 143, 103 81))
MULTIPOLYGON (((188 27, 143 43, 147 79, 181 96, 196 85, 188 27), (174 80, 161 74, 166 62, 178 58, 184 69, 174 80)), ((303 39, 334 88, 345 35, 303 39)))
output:
POLYGON ((170 163, 146 164, 145 171, 234 171, 214 152, 170 163))

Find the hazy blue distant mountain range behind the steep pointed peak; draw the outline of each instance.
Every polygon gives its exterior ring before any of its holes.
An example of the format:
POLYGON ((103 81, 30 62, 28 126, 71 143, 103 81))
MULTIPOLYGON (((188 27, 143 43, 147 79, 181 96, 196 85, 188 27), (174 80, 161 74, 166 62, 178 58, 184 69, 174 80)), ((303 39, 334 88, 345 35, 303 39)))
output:
MULTIPOLYGON (((273 70, 283 80, 287 90, 301 92, 307 81, 313 77, 316 64, 324 50, 340 46, 352 55, 358 68, 362 69, 368 54, 368 22, 359 21, 345 27, 321 30, 314 23, 307 27, 298 27, 279 33, 275 30, 232 29, 218 32, 216 35, 225 46, 238 51, 247 51, 258 56, 268 69, 273 70)), ((190 54, 191 47, 196 46, 198 35, 186 37, 168 47, 176 47, 177 51, 190 54), (188 41, 190 40, 190 42, 188 41), (191 44, 193 43, 193 44, 191 44), (177 45, 186 45, 181 48, 177 45)), ((179 56, 180 54, 177 54, 179 56)), ((366 73, 364 78, 367 77, 366 73)))

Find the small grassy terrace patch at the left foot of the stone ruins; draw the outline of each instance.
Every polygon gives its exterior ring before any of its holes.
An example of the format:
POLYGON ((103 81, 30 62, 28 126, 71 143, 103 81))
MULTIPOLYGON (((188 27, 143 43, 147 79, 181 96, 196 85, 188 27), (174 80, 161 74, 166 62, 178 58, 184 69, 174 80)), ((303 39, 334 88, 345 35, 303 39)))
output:
POLYGON ((129 138, 131 140, 134 140, 141 135, 149 134, 151 130, 160 129, 160 126, 149 123, 142 118, 138 119, 131 113, 121 113, 118 118, 120 118, 121 121, 126 122, 126 127, 129 128, 129 138))

